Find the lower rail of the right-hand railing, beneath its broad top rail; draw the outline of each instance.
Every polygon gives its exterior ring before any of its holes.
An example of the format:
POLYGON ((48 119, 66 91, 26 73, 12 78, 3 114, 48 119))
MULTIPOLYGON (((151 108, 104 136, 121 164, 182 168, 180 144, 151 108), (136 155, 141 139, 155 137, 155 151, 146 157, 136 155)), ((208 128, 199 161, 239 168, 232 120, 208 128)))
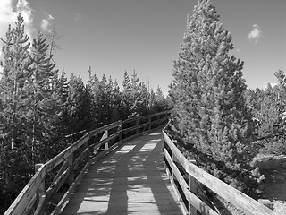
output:
MULTIPOLYGON (((219 215, 217 212, 212 210, 209 206, 206 205, 205 202, 201 201, 194 193, 189 191, 189 185, 187 185, 183 176, 181 176, 181 172, 179 168, 176 167, 175 163, 172 161, 171 156, 168 151, 164 149, 165 159, 168 161, 170 167, 172 168, 172 172, 175 178, 178 180, 181 185, 181 190, 186 196, 186 199, 191 202, 191 204, 202 214, 202 215, 219 215)), ((193 214, 193 213, 190 213, 193 214)))

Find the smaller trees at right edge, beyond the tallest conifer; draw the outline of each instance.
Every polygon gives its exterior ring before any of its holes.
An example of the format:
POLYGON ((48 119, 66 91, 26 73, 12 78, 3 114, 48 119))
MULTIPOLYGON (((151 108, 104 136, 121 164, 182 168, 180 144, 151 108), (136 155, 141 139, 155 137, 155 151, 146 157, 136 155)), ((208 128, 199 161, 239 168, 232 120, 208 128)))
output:
MULTIPOLYGON (((257 139, 286 132, 286 75, 275 73, 277 84, 268 83, 264 89, 248 89, 246 102, 255 122, 257 139)), ((263 142, 263 153, 286 154, 286 144, 281 138, 263 142)))

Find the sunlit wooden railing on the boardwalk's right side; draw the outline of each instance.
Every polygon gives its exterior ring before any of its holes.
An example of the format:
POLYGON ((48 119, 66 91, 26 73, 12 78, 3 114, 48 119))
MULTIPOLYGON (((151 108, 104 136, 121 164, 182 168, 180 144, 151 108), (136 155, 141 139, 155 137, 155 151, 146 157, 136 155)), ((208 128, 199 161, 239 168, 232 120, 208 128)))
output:
POLYGON ((245 212, 248 215, 274 215, 276 214, 265 205, 241 193, 231 185, 225 184, 218 178, 198 168, 195 160, 184 157, 171 137, 163 130, 164 135, 164 158, 166 171, 170 178, 175 193, 181 204, 184 214, 218 215, 219 213, 210 208, 198 198, 198 185, 206 185, 214 193, 221 196, 225 201, 245 212))

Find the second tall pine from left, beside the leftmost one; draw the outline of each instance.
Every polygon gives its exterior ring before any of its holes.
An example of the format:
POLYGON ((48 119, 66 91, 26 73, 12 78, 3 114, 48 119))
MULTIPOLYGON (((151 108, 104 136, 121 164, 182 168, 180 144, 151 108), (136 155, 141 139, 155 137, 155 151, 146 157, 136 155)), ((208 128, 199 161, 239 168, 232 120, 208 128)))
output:
POLYGON ((33 39, 31 48, 32 75, 29 80, 29 120, 30 138, 33 153, 36 153, 38 162, 46 159, 58 151, 51 151, 57 136, 56 122, 61 111, 60 89, 57 89, 55 78, 58 71, 48 54, 49 46, 46 38, 38 32, 33 39))

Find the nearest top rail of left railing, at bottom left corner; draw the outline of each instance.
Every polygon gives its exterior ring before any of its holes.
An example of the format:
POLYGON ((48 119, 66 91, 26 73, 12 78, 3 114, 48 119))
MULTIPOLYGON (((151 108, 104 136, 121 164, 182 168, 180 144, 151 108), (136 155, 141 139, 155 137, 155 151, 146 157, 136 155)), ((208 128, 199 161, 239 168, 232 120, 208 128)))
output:
POLYGON ((36 201, 38 187, 42 185, 46 176, 46 166, 43 165, 38 169, 37 173, 29 180, 29 183, 22 189, 14 202, 10 205, 4 215, 21 215, 31 204, 31 201, 36 201))

